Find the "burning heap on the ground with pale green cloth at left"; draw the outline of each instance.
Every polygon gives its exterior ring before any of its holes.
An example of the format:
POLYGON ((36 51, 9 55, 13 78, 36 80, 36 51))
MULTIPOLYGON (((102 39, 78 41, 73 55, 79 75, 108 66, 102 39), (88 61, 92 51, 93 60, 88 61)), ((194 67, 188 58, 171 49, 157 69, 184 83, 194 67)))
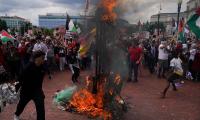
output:
POLYGON ((69 87, 56 94, 54 103, 62 106, 62 110, 87 115, 90 118, 104 120, 120 119, 126 111, 126 104, 120 96, 122 81, 120 75, 102 75, 98 80, 97 93, 93 94, 94 78, 86 77, 85 86, 69 87), (118 118, 116 118, 118 116, 118 118))

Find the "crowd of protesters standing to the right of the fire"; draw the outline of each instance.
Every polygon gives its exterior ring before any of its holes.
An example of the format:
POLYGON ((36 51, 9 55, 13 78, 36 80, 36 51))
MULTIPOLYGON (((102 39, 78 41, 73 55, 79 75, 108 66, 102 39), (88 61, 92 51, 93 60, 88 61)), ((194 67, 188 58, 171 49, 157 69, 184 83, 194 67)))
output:
POLYGON ((141 72, 140 66, 143 65, 158 79, 168 81, 161 92, 162 98, 165 98, 171 84, 176 91, 178 83, 183 84, 186 79, 200 81, 200 41, 195 37, 189 37, 185 43, 173 37, 134 38, 127 48, 128 82, 132 81, 132 78, 134 82, 138 82, 138 71, 141 72))

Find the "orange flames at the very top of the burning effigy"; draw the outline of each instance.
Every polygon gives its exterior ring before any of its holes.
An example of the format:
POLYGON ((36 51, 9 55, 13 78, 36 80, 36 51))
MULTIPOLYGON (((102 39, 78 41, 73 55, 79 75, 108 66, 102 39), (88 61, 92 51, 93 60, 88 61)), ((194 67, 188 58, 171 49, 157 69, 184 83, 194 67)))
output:
POLYGON ((117 14, 114 12, 114 8, 117 6, 117 0, 102 0, 101 6, 105 10, 105 13, 102 15, 102 20, 114 22, 117 18, 117 14))

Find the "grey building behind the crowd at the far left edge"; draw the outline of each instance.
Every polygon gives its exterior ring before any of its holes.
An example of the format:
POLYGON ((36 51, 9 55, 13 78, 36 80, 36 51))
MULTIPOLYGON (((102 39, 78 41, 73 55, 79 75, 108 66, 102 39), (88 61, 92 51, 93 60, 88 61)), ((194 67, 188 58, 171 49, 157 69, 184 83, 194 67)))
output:
POLYGON ((9 29, 20 29, 26 23, 30 23, 30 21, 18 16, 0 16, 0 19, 6 22, 9 29))

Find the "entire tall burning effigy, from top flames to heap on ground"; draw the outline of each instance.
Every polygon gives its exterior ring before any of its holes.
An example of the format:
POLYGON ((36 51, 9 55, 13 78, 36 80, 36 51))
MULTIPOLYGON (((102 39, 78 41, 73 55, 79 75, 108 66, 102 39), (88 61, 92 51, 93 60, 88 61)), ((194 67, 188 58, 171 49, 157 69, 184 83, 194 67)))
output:
POLYGON ((65 96, 61 99, 63 110, 104 120, 121 120, 126 112, 127 105, 121 97, 124 70, 120 65, 125 57, 118 48, 116 7, 117 0, 100 1, 95 14, 95 75, 86 77, 81 88, 58 92, 55 99, 65 96))

